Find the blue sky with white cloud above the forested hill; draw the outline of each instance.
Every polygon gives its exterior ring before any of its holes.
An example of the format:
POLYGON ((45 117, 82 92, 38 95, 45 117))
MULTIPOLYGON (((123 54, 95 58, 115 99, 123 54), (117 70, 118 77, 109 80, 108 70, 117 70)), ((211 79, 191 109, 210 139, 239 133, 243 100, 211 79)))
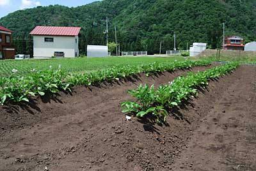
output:
POLYGON ((99 0, 0 0, 0 18, 13 11, 24 10, 36 6, 60 4, 64 6, 81 6, 99 0))

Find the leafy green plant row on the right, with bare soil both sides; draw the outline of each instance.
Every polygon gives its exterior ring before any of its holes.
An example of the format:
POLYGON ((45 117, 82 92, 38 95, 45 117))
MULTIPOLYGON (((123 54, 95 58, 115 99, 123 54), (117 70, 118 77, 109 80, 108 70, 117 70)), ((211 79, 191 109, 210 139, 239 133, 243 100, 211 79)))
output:
POLYGON ((179 106, 191 96, 196 96, 198 87, 205 88, 209 80, 236 70, 239 63, 228 63, 198 73, 189 72, 177 77, 168 85, 161 85, 156 90, 154 85, 145 84, 129 91, 134 101, 121 103, 122 112, 136 115, 139 118, 152 119, 156 123, 165 123, 173 107, 179 106))

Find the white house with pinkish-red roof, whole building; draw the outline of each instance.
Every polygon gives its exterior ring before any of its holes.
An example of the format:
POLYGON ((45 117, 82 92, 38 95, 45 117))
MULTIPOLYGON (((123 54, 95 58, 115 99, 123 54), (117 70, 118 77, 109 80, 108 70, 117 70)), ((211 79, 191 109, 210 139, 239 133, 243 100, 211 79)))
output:
POLYGON ((79 56, 80 27, 36 26, 33 35, 34 54, 37 59, 79 56))

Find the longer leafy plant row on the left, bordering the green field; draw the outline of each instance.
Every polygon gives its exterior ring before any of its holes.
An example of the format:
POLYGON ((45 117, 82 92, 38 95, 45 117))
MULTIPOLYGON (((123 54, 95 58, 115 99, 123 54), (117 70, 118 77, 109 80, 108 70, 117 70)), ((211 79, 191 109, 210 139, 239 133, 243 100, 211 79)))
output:
POLYGON ((45 93, 57 93, 58 91, 72 91, 75 85, 98 84, 104 81, 113 81, 127 76, 145 73, 152 75, 163 71, 174 71, 177 69, 191 68, 193 66, 205 66, 211 61, 184 61, 172 63, 150 63, 140 66, 114 66, 107 70, 95 71, 92 73, 68 73, 67 71, 49 70, 35 71, 24 77, 17 75, 13 69, 10 77, 0 78, 0 103, 6 101, 29 101, 33 96, 44 96, 45 93))

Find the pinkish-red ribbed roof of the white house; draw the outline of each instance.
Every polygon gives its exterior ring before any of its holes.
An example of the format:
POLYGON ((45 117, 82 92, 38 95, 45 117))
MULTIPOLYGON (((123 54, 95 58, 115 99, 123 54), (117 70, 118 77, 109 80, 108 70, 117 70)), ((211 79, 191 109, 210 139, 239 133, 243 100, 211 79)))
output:
POLYGON ((77 36, 81 27, 36 26, 30 34, 51 36, 77 36))

